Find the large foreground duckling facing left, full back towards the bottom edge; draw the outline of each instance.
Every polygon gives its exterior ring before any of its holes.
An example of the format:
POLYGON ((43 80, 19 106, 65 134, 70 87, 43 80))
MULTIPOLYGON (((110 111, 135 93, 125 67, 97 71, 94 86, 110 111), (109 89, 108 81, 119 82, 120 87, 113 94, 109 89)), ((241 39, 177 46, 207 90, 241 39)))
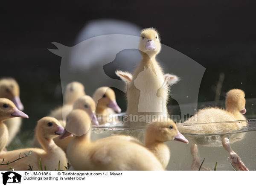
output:
POLYGON ((61 135, 76 136, 67 148, 67 157, 75 170, 164 170, 157 157, 137 143, 110 137, 91 141, 90 121, 84 110, 72 110, 61 135))

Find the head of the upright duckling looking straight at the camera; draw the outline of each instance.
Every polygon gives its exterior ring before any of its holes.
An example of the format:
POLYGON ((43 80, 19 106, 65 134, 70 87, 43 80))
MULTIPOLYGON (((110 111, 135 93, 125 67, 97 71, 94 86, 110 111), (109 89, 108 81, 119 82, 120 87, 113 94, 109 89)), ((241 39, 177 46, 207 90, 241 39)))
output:
POLYGON ((148 28, 140 32, 139 49, 142 54, 147 54, 150 58, 160 52, 161 43, 156 29, 148 28))

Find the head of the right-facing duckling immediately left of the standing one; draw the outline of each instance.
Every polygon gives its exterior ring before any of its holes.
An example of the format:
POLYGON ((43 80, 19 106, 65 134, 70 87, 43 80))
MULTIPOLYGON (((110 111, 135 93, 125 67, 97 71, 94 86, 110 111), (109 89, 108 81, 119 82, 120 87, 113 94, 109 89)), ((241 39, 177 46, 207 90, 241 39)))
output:
POLYGON ((97 102, 97 107, 102 110, 106 108, 112 108, 116 112, 120 113, 121 108, 116 103, 116 94, 109 87, 99 87, 93 94, 94 101, 97 102))

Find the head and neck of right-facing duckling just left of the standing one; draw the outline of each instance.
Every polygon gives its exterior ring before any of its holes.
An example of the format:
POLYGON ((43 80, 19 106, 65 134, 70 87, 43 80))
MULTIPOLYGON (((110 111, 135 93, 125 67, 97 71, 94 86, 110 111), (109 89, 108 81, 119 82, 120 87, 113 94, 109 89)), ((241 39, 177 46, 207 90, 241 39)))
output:
POLYGON ((121 108, 116 103, 116 94, 109 87, 99 87, 95 90, 93 94, 93 99, 96 103, 96 116, 101 118, 99 123, 112 122, 111 118, 109 121, 109 115, 115 113, 114 111, 120 113, 121 108), (114 111, 113 111, 113 110, 114 111))

